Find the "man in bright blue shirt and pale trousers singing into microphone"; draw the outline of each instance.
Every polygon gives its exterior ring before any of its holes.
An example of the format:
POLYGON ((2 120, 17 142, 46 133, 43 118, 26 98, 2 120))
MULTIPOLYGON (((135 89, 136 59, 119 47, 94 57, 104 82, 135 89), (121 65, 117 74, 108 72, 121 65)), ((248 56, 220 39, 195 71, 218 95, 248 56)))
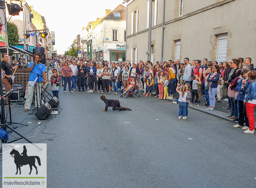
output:
POLYGON ((44 64, 40 63, 40 60, 43 59, 42 54, 34 54, 34 62, 29 63, 28 66, 28 70, 36 73, 30 73, 29 76, 29 80, 27 83, 27 98, 26 98, 26 102, 25 102, 25 111, 28 111, 30 109, 31 103, 32 103, 32 99, 33 99, 33 94, 35 91, 35 88, 37 89, 37 100, 35 101, 35 107, 37 107, 37 102, 38 102, 38 107, 41 107, 41 103, 40 103, 40 94, 41 94, 41 86, 42 84, 45 84, 45 74, 46 74, 46 67, 44 64), (34 84, 34 86, 32 86, 32 83, 34 82, 35 79, 37 79, 37 74, 40 74, 41 76, 39 76, 39 80, 36 81, 36 84, 34 84), (39 84, 39 88, 40 91, 38 91, 38 84, 39 84))

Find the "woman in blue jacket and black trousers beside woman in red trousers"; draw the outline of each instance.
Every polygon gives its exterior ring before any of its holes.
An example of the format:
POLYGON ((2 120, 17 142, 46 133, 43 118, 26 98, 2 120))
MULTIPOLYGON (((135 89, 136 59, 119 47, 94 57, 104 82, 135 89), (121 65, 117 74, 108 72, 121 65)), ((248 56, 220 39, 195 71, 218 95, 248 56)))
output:
POLYGON ((245 91, 248 88, 248 85, 250 83, 249 78, 248 78, 248 73, 249 71, 247 69, 242 70, 241 72, 241 76, 243 78, 242 81, 240 81, 240 83, 236 86, 236 93, 237 93, 237 101, 238 101, 238 113, 239 113, 239 120, 238 123, 236 125, 234 125, 234 128, 242 128, 243 130, 247 130, 249 128, 249 120, 248 117, 246 115, 246 107, 243 104, 243 100, 245 97, 245 91), (244 119, 245 119, 245 126, 243 126, 244 123, 244 119))

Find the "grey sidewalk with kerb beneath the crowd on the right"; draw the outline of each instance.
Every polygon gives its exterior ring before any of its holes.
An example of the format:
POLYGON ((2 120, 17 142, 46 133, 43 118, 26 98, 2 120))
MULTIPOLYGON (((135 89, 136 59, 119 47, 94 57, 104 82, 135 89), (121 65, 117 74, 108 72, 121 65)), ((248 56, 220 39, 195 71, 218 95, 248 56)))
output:
MULTIPOLYGON (((173 96, 173 99, 169 99, 169 101, 171 101, 171 102, 176 101, 177 100, 176 98, 178 98, 178 97, 179 97, 179 94, 175 92, 175 94, 173 96)), ((194 110, 200 111, 200 112, 205 113, 205 114, 209 114, 209 115, 221 118, 221 119, 229 121, 229 122, 237 123, 237 121, 233 121, 232 119, 226 118, 227 115, 230 115, 230 113, 228 113, 228 111, 225 110, 227 107, 229 107, 229 102, 228 101, 223 101, 222 100, 222 103, 219 103, 216 100, 216 106, 215 106, 214 111, 206 110, 206 107, 203 107, 203 103, 206 101, 205 97, 201 96, 200 101, 201 101, 201 103, 200 103, 201 106, 200 107, 191 106, 191 103, 189 103, 189 108, 192 108, 194 110)), ((172 104, 172 105, 175 105, 175 104, 172 104)), ((256 114, 256 112, 254 112, 254 114, 256 114)))

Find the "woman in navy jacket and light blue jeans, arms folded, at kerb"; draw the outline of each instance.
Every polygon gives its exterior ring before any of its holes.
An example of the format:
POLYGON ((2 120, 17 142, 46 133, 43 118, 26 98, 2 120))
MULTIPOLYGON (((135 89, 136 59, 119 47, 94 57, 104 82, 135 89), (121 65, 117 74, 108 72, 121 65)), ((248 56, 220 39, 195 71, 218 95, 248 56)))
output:
POLYGON ((209 77, 207 79, 209 84, 208 93, 209 93, 209 102, 210 102, 210 107, 207 108, 207 110, 211 110, 211 111, 215 110, 215 103, 216 103, 215 95, 217 92, 219 78, 220 78, 219 66, 214 65, 212 67, 212 73, 209 74, 209 77))

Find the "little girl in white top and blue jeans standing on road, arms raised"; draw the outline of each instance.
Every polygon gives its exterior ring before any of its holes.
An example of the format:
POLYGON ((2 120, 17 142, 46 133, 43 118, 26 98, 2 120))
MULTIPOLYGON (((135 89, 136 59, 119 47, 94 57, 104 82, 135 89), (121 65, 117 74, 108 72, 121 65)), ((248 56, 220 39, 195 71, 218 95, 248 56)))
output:
POLYGON ((181 86, 178 85, 177 88, 176 88, 176 92, 179 93, 180 97, 179 97, 179 119, 182 118, 183 116, 183 120, 186 120, 187 117, 185 116, 186 115, 186 98, 187 98, 187 88, 185 86, 182 86, 180 91, 178 90, 178 87, 181 86))

